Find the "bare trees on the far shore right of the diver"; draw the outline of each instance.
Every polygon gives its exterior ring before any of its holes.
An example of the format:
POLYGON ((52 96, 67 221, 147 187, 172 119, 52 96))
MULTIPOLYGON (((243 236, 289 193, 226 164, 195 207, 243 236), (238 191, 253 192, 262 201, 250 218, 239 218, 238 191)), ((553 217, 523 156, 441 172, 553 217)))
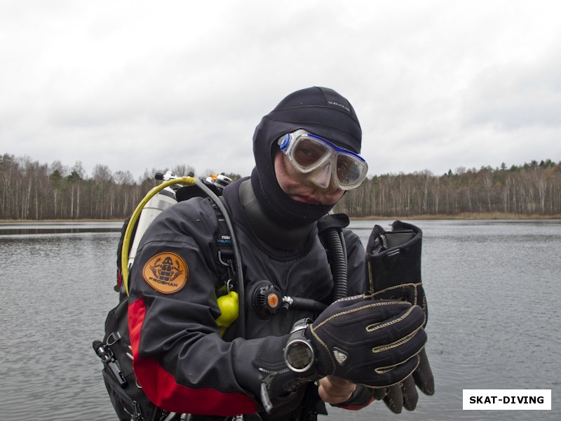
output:
POLYGON ((374 175, 337 205, 355 217, 508 213, 561 215, 561 162, 374 175))

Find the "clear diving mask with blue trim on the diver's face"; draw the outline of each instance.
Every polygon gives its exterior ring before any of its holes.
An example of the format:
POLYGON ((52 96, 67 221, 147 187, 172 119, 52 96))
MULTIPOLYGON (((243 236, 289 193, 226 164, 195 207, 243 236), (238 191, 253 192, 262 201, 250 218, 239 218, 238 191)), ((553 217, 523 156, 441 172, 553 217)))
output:
POLYGON ((331 178, 342 190, 356 189, 366 178, 368 164, 362 156, 304 130, 285 134, 278 145, 292 166, 324 189, 331 178))

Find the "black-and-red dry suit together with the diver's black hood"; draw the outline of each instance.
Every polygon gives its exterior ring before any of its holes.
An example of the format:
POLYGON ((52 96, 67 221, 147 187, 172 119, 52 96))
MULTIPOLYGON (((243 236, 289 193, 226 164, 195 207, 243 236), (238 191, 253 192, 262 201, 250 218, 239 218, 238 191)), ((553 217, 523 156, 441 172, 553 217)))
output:
MULTIPOLYGON (((251 180, 224 189, 231 213, 245 286, 245 334, 234 323, 221 337, 217 289, 224 268, 217 262, 218 222, 209 201, 177 203, 154 220, 142 237, 130 274, 128 320, 138 382, 157 406, 217 420, 308 420, 322 410, 313 382, 264 396, 271 370, 289 372, 283 347, 295 321, 315 319, 320 309, 289 306, 277 314, 255 307, 264 285, 282 295, 328 305, 334 282, 316 221, 332 206, 300 203, 280 189, 273 169, 276 140, 304 128, 340 147, 360 152, 360 125, 341 95, 308 88, 289 95, 262 119, 254 136, 256 168, 251 180), (272 405, 272 408, 271 408, 272 405), (222 417, 222 418, 221 418, 222 417)), ((348 267, 346 292, 365 292, 365 250, 344 230, 348 267)), ((238 319, 239 321, 239 319, 238 319)), ((353 394, 341 406, 358 409, 370 394, 353 394)))

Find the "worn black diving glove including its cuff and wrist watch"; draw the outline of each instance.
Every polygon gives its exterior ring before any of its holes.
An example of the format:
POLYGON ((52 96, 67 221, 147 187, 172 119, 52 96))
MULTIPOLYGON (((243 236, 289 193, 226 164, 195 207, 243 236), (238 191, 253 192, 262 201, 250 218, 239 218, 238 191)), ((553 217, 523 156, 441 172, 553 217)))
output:
POLYGON ((363 295, 332 303, 313 323, 297 321, 288 338, 267 338, 253 361, 262 373, 264 408, 269 412, 304 382, 326 375, 368 388, 398 384, 417 368, 426 342, 423 323, 417 306, 363 295))

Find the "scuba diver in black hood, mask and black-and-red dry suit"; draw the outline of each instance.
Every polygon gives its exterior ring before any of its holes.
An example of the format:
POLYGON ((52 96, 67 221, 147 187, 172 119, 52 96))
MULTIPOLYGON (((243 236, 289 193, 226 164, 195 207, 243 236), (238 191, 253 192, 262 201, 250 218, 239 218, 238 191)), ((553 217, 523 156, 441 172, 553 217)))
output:
POLYGON ((383 399, 398 412, 414 408, 415 385, 433 392, 420 283, 413 300, 377 297, 349 219, 328 215, 367 176, 361 141, 342 95, 291 93, 255 130, 251 176, 224 187, 227 215, 201 195, 147 227, 130 268, 128 332, 137 385, 163 411, 153 419, 316 420, 326 403, 383 399), (224 218, 237 265, 220 254, 224 218))

